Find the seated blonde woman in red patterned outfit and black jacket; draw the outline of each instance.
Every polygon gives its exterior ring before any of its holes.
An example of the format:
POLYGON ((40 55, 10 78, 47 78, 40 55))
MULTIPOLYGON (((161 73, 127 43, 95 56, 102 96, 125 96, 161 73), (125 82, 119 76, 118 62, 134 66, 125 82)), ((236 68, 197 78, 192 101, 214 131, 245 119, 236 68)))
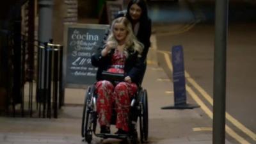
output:
POLYGON ((92 56, 92 65, 98 67, 97 114, 99 116, 100 133, 110 132, 113 106, 116 111, 116 134, 128 134, 129 110, 132 96, 138 90, 143 77, 143 60, 141 60, 141 44, 132 31, 131 22, 125 17, 113 20, 111 31, 104 47, 92 56), (124 74, 124 81, 111 83, 103 79, 102 72, 124 74))

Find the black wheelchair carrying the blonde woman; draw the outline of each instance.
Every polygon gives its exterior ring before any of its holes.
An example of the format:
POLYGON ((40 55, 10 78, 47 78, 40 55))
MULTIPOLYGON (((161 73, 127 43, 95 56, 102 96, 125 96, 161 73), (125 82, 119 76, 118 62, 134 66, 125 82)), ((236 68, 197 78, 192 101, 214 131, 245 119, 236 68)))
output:
MULTIPOLYGON (((84 107, 83 107, 83 119, 82 119, 82 127, 81 127, 81 135, 83 140, 87 143, 92 142, 93 135, 99 138, 107 139, 107 138, 116 138, 121 140, 130 140, 131 143, 138 143, 138 132, 137 129, 132 134, 113 134, 113 133, 99 133, 97 132, 97 111, 96 111, 96 102, 97 102, 97 94, 95 93, 95 86, 89 86, 84 99, 84 107)), ((145 143, 148 140, 148 100, 147 100, 147 90, 143 89, 141 86, 138 86, 138 91, 134 95, 131 100, 131 109, 130 116, 136 113, 136 125, 137 121, 140 123, 140 142, 145 143)), ((129 120, 129 125, 131 125, 132 121, 129 120)), ((115 109, 113 109, 113 115, 111 118, 111 125, 115 125, 116 123, 116 113, 115 109)))

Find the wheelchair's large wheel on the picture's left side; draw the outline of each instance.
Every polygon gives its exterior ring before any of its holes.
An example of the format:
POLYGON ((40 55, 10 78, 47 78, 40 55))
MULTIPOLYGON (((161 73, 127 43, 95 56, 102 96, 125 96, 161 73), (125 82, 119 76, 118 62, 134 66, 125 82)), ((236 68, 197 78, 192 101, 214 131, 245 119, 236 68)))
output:
POLYGON ((92 141, 92 130, 88 129, 89 120, 90 120, 90 113, 88 109, 88 104, 90 103, 90 100, 92 99, 93 95, 93 86, 89 86, 86 92, 86 96, 84 99, 84 108, 83 108, 83 118, 82 118, 82 137, 85 137, 85 140, 90 143, 92 141))

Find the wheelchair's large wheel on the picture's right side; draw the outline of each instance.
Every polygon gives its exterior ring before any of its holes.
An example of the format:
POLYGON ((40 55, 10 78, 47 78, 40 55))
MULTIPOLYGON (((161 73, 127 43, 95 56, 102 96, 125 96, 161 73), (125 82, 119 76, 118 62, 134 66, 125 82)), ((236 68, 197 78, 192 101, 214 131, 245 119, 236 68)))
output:
POLYGON ((148 140, 148 99, 147 90, 140 93, 140 140, 144 143, 148 140))

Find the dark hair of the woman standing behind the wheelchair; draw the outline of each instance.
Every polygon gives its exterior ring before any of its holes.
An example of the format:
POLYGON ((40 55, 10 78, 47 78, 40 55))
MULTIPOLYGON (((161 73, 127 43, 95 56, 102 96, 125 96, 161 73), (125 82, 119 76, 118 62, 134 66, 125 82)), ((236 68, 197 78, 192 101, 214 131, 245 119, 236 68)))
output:
POLYGON ((129 2, 129 4, 127 6, 127 13, 126 13, 127 19, 129 19, 131 22, 133 21, 132 18, 131 18, 131 15, 129 13, 129 10, 130 10, 132 4, 137 4, 138 6, 140 6, 140 8, 142 10, 139 22, 141 22, 141 23, 147 22, 147 20, 148 20, 148 10, 147 10, 147 4, 146 4, 145 0, 131 0, 129 2))

